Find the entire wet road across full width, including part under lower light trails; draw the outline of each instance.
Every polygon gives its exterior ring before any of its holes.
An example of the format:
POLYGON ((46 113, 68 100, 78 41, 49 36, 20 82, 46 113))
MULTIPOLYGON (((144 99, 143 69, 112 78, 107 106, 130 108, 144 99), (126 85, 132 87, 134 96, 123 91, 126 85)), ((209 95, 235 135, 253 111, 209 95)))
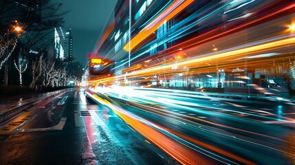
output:
POLYGON ((73 89, 1 124, 1 164, 294 164, 291 102, 116 92, 73 89))

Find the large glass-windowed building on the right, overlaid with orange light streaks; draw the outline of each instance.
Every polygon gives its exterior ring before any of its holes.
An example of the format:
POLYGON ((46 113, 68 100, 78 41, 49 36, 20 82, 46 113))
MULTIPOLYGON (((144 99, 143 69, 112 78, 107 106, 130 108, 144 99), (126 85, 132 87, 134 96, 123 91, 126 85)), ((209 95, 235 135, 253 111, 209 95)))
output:
POLYGON ((289 1, 118 0, 112 32, 98 52, 113 58, 114 74, 124 75, 124 81, 129 83, 134 80, 128 80, 128 74, 136 69, 174 65, 145 76, 163 86, 179 88, 240 87, 251 84, 254 78, 272 77, 282 79, 278 84, 283 85, 285 77, 295 75, 290 47, 287 50, 272 47, 274 52, 267 52, 266 48, 249 50, 243 56, 234 52, 232 56, 239 56, 232 59, 234 62, 228 62, 228 56, 221 59, 218 55, 292 31, 286 25, 292 24, 290 18, 294 14, 286 12, 263 19, 272 16, 269 9, 285 9, 290 4, 289 1), (267 59, 261 59, 266 55, 267 59), (200 62, 181 65, 191 58, 200 62), (252 58, 259 59, 259 63, 252 58), (248 79, 243 80, 244 77, 248 79))

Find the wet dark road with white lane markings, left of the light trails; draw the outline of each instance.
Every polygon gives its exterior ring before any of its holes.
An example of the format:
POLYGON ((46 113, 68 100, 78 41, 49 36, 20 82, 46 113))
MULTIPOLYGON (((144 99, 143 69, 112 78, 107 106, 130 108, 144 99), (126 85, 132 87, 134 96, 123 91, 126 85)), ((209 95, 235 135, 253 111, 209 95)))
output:
POLYGON ((0 148, 1 164, 178 164, 78 90, 1 124, 0 148))

